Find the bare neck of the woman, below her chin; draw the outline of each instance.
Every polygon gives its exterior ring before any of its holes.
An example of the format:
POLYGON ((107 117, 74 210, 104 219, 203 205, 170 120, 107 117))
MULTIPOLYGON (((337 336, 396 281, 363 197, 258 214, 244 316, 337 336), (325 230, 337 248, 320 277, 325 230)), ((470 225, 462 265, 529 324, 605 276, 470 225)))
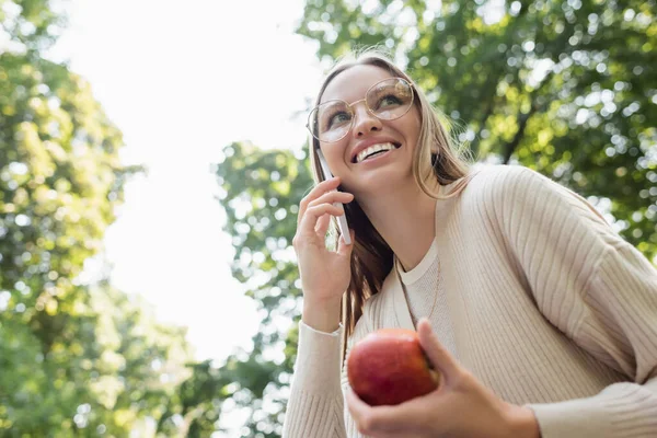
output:
POLYGON ((436 199, 416 184, 403 184, 385 193, 368 194, 358 204, 404 270, 422 262, 436 237, 436 199))

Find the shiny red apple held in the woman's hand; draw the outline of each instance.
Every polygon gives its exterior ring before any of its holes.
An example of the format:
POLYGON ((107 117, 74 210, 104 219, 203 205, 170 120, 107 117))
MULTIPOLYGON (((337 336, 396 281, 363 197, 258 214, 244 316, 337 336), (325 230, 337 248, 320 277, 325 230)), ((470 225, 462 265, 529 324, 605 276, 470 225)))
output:
POLYGON ((347 377, 356 394, 371 406, 395 405, 438 388, 417 333, 382 328, 356 343, 347 358, 347 377))

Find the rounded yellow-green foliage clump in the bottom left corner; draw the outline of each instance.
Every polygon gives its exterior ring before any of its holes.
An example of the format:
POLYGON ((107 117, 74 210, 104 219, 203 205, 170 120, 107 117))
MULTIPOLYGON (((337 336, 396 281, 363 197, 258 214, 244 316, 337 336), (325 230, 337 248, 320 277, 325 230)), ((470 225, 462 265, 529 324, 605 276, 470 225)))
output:
POLYGON ((3 314, 0 435, 127 436, 162 413, 174 379, 186 376, 184 331, 158 324, 107 285, 80 292, 76 312, 58 313, 48 351, 27 324, 3 314))

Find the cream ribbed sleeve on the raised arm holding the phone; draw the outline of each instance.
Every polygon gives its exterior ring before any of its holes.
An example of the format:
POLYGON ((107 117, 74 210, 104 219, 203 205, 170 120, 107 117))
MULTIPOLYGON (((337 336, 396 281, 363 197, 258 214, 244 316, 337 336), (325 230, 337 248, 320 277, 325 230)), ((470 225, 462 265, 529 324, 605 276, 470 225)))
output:
MULTIPOLYGON (((367 318, 371 302, 347 341, 351 346, 369 332, 367 318)), ((344 394, 349 382, 341 370, 343 330, 324 333, 299 322, 299 345, 295 376, 283 425, 283 438, 362 438, 347 410, 344 394)))

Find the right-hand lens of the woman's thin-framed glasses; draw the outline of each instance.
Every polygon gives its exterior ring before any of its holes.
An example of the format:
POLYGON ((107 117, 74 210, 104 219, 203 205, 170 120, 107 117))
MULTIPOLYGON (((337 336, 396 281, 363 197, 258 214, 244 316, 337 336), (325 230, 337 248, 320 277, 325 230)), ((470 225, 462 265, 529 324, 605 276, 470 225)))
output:
POLYGON ((365 97, 367 106, 377 117, 393 120, 411 110, 413 89, 401 78, 387 79, 372 87, 365 97))

